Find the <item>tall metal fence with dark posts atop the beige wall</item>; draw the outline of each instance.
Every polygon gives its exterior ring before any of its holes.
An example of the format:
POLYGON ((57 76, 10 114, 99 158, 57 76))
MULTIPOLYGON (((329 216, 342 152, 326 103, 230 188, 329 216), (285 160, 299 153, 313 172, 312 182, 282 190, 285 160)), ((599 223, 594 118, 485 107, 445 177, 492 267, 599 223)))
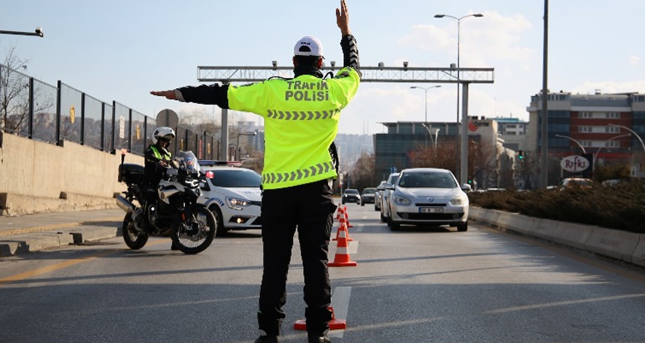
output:
MULTIPOLYGON (((112 154, 127 149, 143 155, 157 123, 117 101, 106 103, 61 81, 48 85, 0 64, 0 129, 55 145, 73 141, 112 154)), ((199 159, 219 159, 215 136, 174 129, 173 154, 190 150, 199 159)))

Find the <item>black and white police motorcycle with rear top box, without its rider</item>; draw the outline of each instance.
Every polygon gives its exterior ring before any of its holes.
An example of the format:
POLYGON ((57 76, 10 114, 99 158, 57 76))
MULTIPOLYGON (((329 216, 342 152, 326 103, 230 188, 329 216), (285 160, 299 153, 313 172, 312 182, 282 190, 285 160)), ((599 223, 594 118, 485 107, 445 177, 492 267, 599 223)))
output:
POLYGON ((144 167, 123 163, 121 154, 119 182, 128 185, 117 206, 126 212, 123 240, 130 249, 141 249, 149 236, 170 236, 173 247, 186 254, 201 253, 215 237, 215 217, 206 206, 197 203, 201 195, 200 167, 192 151, 180 151, 164 171, 157 187, 157 200, 144 211, 146 196, 144 167), (135 205, 135 202, 137 203, 135 205))

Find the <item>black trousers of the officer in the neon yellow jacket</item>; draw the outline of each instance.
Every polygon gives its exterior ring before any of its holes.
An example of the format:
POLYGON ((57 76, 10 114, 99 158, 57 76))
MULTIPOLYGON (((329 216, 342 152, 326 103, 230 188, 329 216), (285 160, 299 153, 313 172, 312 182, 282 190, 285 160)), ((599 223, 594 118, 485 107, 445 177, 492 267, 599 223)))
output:
POLYGON ((286 317, 282 307, 296 228, 303 258, 307 331, 320 334, 329 329, 332 288, 327 262, 335 211, 327 180, 263 192, 264 273, 257 319, 268 335, 279 335, 286 317))

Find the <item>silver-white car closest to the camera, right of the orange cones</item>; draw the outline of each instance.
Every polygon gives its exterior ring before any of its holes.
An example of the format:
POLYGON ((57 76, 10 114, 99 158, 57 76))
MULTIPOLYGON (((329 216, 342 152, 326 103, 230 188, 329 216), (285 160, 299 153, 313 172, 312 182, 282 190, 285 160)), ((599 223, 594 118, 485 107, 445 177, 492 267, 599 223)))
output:
POLYGON ((403 169, 398 182, 386 187, 392 194, 387 202, 388 225, 392 231, 401 224, 450 225, 457 231, 468 230, 467 191, 470 185, 459 186, 448 169, 403 169))

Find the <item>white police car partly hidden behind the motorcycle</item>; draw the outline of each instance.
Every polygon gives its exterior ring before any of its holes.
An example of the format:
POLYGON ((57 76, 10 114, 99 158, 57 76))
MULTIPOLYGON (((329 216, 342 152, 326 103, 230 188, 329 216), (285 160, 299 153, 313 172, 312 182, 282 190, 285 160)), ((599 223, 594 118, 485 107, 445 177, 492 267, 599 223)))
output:
POLYGON ((199 161, 205 180, 202 196, 197 202, 203 203, 215 215, 217 235, 231 230, 260 229, 262 177, 257 172, 241 167, 239 163, 199 161))

